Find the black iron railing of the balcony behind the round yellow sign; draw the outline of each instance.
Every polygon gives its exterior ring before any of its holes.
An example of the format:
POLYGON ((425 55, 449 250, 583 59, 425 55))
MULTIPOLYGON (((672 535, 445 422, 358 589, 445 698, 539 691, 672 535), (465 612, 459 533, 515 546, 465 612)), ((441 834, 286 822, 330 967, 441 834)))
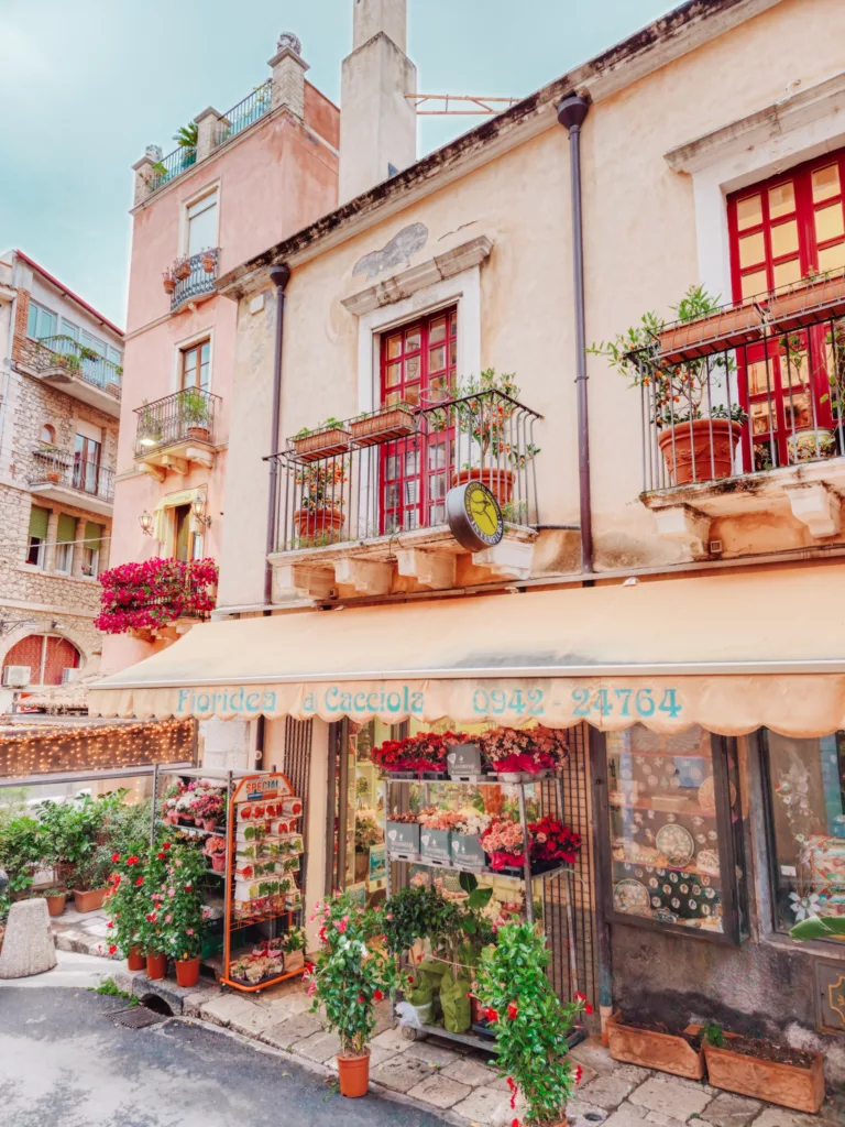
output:
POLYGON ((536 525, 535 424, 510 396, 483 391, 430 406, 388 405, 288 440, 279 476, 277 551, 390 536, 446 524, 446 494, 475 479, 513 524, 536 525))

